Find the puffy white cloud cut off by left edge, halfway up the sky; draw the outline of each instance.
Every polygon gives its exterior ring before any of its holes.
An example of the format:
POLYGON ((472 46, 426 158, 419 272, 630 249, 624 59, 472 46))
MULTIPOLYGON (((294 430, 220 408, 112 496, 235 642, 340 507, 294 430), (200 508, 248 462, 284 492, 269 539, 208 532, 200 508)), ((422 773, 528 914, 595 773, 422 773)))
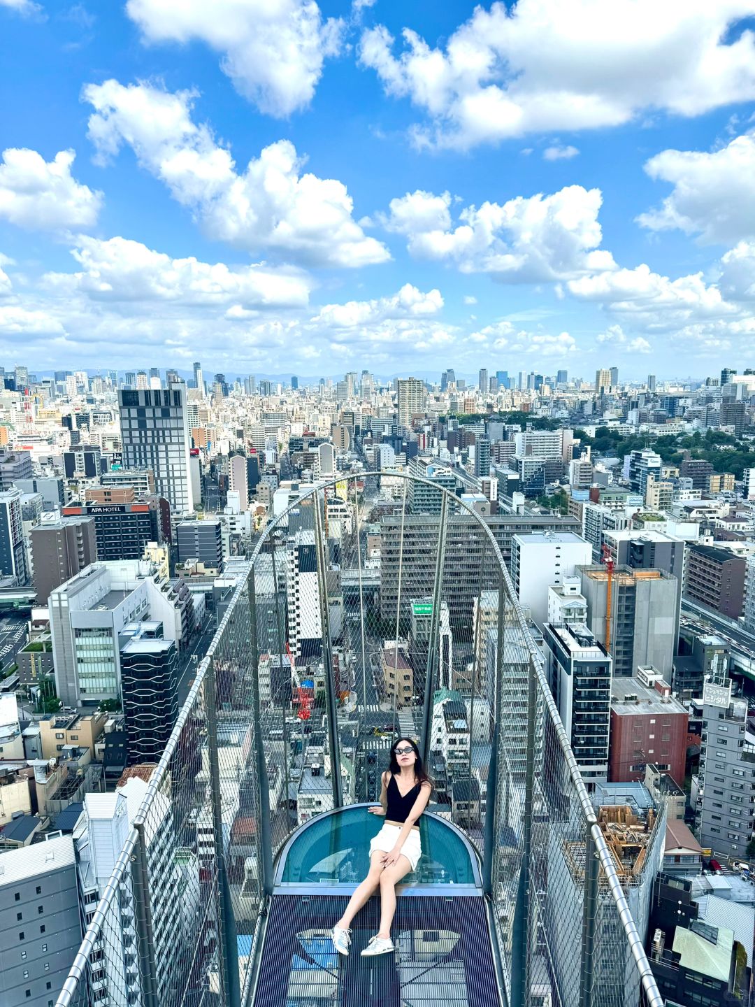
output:
POLYGON ((0 162, 0 220, 30 231, 80 230, 97 223, 103 197, 70 174, 76 154, 52 161, 26 148, 8 148, 0 162))

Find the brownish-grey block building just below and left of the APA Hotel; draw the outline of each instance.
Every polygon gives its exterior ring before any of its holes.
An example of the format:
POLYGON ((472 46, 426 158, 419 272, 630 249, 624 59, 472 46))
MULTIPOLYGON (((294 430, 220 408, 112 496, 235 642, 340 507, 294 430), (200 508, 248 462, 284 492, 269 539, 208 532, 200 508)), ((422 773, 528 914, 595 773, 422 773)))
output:
POLYGON ((37 525, 30 539, 37 605, 46 605, 51 591, 97 559, 94 518, 37 525))

